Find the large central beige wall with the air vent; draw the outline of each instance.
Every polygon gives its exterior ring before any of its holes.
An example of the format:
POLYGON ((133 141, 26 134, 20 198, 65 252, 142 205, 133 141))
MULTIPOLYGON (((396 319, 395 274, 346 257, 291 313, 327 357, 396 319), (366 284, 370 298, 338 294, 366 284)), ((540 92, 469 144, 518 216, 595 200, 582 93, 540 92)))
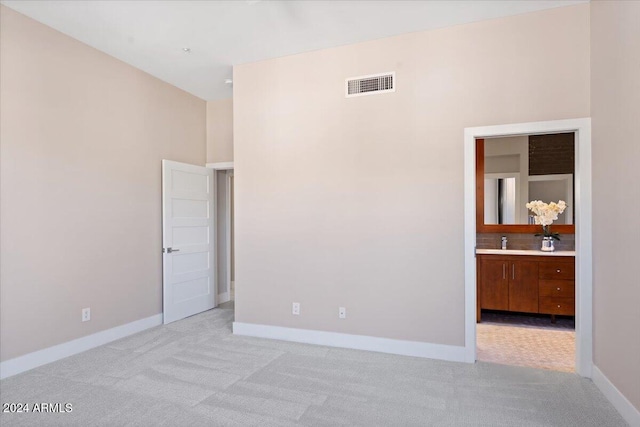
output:
POLYGON ((588 117, 589 84, 588 4, 235 67, 236 320, 464 345, 463 129, 588 117))

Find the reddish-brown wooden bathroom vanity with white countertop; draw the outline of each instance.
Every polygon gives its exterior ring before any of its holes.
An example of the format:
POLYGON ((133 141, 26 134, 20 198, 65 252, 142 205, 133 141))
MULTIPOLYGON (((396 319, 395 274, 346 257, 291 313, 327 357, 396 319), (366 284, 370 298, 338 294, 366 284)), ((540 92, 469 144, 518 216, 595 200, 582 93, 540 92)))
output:
POLYGON ((575 315, 575 252, 477 249, 477 321, 482 309, 575 315))

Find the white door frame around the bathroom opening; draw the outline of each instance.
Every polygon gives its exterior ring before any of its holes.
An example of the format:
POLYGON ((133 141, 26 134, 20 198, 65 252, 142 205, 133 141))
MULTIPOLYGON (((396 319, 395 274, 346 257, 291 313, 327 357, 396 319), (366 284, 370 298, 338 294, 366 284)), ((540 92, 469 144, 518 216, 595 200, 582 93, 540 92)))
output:
POLYGON ((464 130, 465 361, 476 361, 476 138, 575 132, 576 372, 593 367, 591 118, 516 123, 464 130))

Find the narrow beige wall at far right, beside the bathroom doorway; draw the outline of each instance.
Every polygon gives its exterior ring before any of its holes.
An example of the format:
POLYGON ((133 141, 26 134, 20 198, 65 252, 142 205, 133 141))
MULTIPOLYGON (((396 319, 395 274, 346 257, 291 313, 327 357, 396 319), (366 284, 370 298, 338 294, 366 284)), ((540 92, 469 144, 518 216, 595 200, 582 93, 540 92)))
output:
POLYGON ((591 2, 594 363, 640 410, 640 2, 591 2))

